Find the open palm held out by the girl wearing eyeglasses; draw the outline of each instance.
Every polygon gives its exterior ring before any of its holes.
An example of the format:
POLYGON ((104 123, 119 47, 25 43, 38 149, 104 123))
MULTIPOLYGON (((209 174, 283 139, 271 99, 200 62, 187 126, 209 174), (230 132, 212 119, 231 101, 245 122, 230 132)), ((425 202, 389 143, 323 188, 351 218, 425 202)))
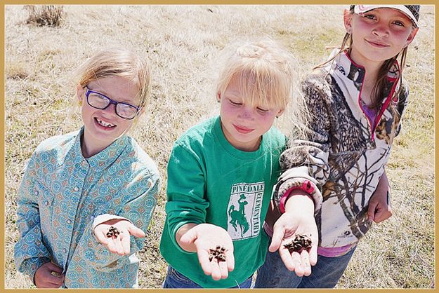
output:
POLYGON ((131 235, 138 238, 145 237, 145 232, 125 219, 111 219, 102 224, 98 224, 94 229, 94 234, 96 239, 105 245, 111 253, 119 255, 130 254, 131 235), (119 231, 119 235, 107 236, 111 226, 119 231))

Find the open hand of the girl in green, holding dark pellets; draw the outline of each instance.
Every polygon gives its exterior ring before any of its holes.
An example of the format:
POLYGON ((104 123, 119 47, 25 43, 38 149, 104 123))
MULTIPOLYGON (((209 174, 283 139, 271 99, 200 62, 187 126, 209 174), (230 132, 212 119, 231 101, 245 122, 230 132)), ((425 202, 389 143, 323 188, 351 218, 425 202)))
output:
POLYGON ((213 224, 193 226, 181 236, 180 243, 182 247, 195 245, 202 270, 214 280, 228 278, 228 272, 235 268, 232 239, 228 232, 219 226, 213 224), (218 261, 216 257, 209 260, 209 253, 217 246, 225 248, 225 261, 218 261))

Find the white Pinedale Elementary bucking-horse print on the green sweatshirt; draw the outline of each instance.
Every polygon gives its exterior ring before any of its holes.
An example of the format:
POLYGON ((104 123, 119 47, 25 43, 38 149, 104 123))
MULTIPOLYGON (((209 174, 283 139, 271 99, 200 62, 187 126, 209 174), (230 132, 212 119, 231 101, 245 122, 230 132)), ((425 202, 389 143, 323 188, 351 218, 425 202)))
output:
POLYGON ((264 183, 232 185, 228 204, 228 233, 232 240, 258 236, 264 183))

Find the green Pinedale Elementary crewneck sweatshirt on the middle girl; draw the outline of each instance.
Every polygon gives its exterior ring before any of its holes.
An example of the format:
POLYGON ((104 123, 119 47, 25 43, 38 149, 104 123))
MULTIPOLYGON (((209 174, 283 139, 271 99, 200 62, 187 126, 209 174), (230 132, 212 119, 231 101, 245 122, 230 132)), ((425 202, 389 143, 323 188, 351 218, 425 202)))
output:
POLYGON ((262 225, 285 142, 286 137, 271 128, 257 151, 240 151, 225 139, 219 117, 190 128, 175 142, 160 252, 176 271, 202 287, 225 288, 244 282, 263 264, 268 238, 262 225), (177 244, 176 231, 188 223, 210 223, 228 231, 235 269, 227 279, 205 275, 197 254, 177 244))

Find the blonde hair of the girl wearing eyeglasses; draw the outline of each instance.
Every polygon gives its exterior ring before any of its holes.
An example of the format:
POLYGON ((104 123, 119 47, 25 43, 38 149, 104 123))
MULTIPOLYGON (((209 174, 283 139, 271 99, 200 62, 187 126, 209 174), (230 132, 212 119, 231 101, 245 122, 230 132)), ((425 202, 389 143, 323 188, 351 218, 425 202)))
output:
POLYGON ((138 88, 138 107, 148 104, 151 95, 151 74, 147 60, 130 50, 109 48, 91 56, 79 67, 77 84, 84 88, 91 81, 105 77, 122 76, 138 88))

